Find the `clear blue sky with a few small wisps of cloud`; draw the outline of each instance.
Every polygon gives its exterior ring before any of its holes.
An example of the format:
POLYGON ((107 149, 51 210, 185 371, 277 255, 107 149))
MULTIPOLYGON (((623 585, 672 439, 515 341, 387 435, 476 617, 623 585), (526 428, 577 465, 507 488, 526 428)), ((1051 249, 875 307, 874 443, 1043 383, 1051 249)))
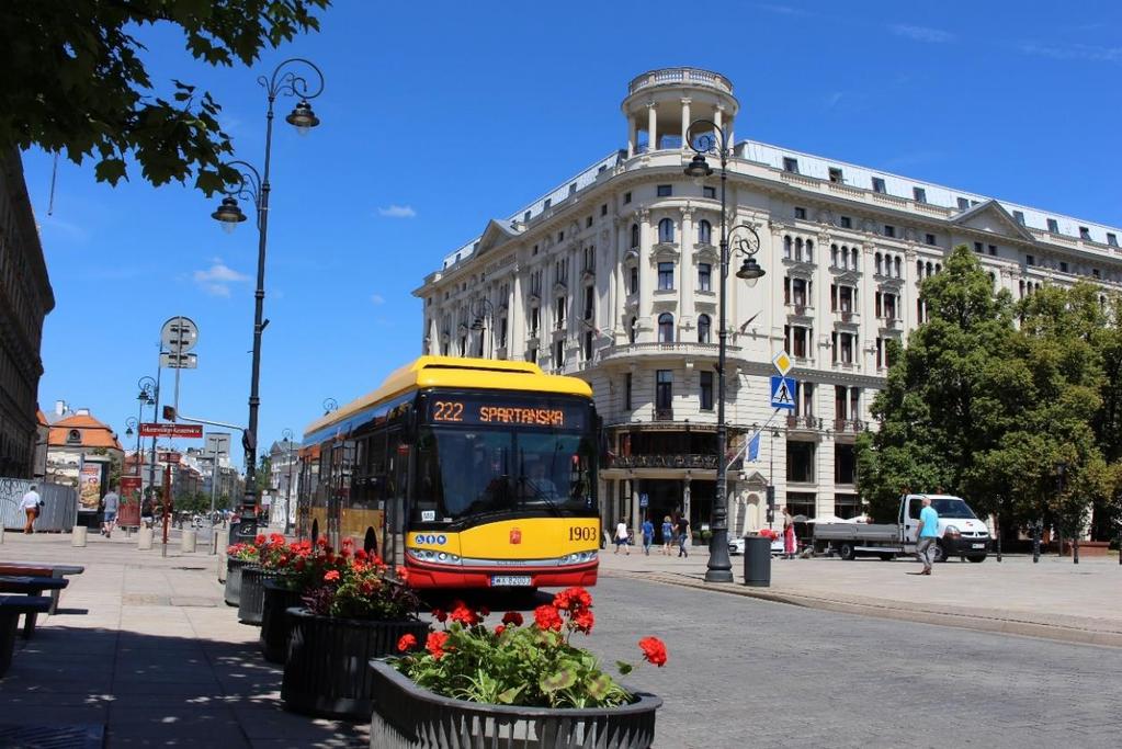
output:
MULTIPOLYGON (((144 35, 162 93, 172 77, 210 90, 255 164, 256 76, 289 56, 327 76, 321 127, 300 138, 278 119, 274 136, 265 445, 414 357, 411 292, 488 219, 625 146, 619 102, 651 68, 732 78, 739 138, 1122 225, 1116 3, 337 0, 322 21, 252 70, 199 65, 169 29, 144 35)), ((278 102, 280 118, 292 104, 278 102)), ((25 169, 57 303, 44 410, 89 407, 123 435, 160 324, 182 314, 201 335, 181 412, 245 423, 249 222, 227 235, 210 219, 217 200, 138 176, 111 188, 92 163, 66 161, 47 215, 52 158, 29 152, 25 169)))

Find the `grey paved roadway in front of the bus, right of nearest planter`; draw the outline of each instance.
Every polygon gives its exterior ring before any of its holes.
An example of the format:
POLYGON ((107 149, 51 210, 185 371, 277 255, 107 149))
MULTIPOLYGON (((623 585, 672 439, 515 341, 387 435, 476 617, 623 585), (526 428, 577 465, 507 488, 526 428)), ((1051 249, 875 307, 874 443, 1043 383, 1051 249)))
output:
POLYGON ((1119 746, 1122 649, 618 577, 594 595, 588 645, 663 697, 660 749, 1119 746), (646 635, 664 668, 642 662, 646 635))

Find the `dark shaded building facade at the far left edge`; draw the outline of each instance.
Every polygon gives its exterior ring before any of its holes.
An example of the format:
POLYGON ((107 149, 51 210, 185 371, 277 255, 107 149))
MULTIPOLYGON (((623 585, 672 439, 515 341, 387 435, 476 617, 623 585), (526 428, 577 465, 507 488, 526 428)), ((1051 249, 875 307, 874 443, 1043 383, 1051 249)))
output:
POLYGON ((24 166, 12 149, 0 154, 0 475, 42 478, 39 346, 54 306, 24 166))

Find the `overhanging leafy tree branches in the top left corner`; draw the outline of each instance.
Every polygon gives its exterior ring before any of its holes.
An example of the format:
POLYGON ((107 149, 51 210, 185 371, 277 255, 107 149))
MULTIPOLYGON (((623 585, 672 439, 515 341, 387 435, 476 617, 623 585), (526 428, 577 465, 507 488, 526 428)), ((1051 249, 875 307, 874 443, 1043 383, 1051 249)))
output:
POLYGON ((4 0, 0 3, 0 148, 94 157, 100 182, 194 184, 206 194, 236 175, 233 148, 206 91, 173 80, 157 86, 136 34, 171 26, 187 52, 214 66, 251 65, 266 47, 319 30, 330 0, 4 0), (12 84, 11 82, 15 82, 12 84))

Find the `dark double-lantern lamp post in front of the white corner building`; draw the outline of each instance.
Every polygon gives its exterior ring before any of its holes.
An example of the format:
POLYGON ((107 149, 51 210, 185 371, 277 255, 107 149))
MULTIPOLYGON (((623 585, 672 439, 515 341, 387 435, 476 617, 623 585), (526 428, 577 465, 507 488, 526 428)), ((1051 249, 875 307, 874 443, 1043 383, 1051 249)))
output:
POLYGON ((728 261, 732 250, 728 238, 738 230, 744 230, 745 235, 736 242, 736 251, 744 255, 744 265, 736 271, 736 277, 747 281, 748 286, 755 286, 764 275, 764 269, 756 262, 755 256, 760 251, 760 235, 756 230, 748 224, 733 226, 727 230, 727 216, 725 210, 725 186, 728 182, 728 159, 733 155, 732 146, 728 142, 728 133, 717 127, 711 120, 695 120, 686 130, 693 158, 686 167, 686 175, 695 179, 705 179, 712 175, 712 167, 706 161, 706 154, 715 154, 720 159, 720 294, 717 302, 719 329, 717 333, 717 487, 712 498, 712 512, 709 521, 709 529, 712 535, 709 537, 709 563, 706 568, 705 579, 709 583, 733 582, 733 562, 728 558, 728 502, 726 496, 726 472, 728 470, 728 455, 725 454, 728 442, 728 426, 725 424, 725 358, 728 348, 728 330, 725 325, 726 287, 728 286, 728 261), (697 139, 690 138, 695 126, 706 126, 707 131, 697 139), (708 128, 712 128, 708 130, 708 128))

